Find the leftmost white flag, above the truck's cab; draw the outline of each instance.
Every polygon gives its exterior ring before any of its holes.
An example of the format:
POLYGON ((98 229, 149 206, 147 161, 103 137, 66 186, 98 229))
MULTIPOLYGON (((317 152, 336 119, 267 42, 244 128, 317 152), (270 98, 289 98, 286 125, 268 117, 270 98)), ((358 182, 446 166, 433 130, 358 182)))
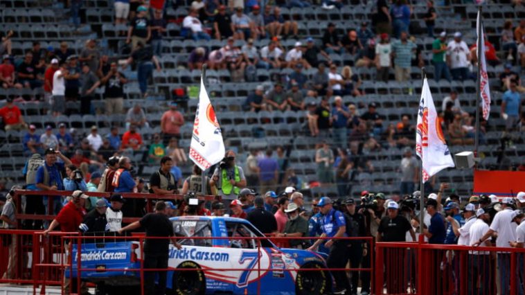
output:
POLYGON ((199 105, 197 105, 191 136, 190 159, 199 168, 206 170, 224 159, 224 152, 219 122, 201 77, 199 105))

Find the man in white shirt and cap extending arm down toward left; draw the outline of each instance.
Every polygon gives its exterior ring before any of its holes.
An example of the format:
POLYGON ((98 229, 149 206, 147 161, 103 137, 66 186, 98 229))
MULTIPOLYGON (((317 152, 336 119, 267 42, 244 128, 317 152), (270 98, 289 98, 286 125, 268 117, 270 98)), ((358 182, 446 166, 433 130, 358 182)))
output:
MULTIPOLYGON (((474 246, 485 242, 488 238, 492 237, 494 233, 497 233, 498 238, 496 240, 496 247, 510 247, 509 242, 516 240, 516 224, 512 222, 514 199, 506 197, 501 202, 501 208, 492 224, 490 229, 481 237, 474 246)), ((500 294, 510 294, 510 253, 501 252, 497 253, 498 269, 499 269, 499 291, 500 294)))

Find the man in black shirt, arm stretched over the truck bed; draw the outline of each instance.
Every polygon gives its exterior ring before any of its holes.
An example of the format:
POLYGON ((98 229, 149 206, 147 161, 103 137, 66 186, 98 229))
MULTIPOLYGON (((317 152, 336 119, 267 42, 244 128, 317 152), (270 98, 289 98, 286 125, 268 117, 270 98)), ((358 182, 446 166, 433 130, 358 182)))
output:
MULTIPOLYGON (((143 227, 146 237, 166 237, 166 239, 146 239, 144 244, 144 268, 168 269, 168 253, 170 240, 172 244, 181 249, 181 244, 175 239, 173 226, 166 215, 166 203, 159 201, 155 204, 155 213, 148 213, 141 220, 133 222, 123 229, 122 234, 143 227), (168 239, 169 238, 169 239, 168 239)), ((144 272, 144 292, 147 295, 166 293, 166 270, 144 272), (158 284, 155 286, 155 274, 158 274, 158 284)))

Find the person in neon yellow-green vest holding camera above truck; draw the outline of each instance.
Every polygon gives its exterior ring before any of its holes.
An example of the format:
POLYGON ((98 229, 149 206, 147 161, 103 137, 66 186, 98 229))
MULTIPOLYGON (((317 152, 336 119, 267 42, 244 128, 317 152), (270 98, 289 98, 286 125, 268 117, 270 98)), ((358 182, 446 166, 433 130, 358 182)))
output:
POLYGON ((246 187, 244 171, 240 166, 235 165, 233 150, 227 151, 224 160, 215 168, 210 184, 217 186, 224 205, 229 205, 231 200, 237 199, 240 189, 246 187))

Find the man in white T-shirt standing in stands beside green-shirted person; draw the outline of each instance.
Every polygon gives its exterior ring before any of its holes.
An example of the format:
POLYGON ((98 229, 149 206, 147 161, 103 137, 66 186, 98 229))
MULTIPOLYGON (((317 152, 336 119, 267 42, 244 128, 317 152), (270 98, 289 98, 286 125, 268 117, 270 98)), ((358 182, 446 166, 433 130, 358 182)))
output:
POLYGON ((468 63, 470 51, 459 32, 454 33, 454 39, 447 45, 447 55, 450 56, 450 73, 452 79, 463 81, 468 79, 468 63))

